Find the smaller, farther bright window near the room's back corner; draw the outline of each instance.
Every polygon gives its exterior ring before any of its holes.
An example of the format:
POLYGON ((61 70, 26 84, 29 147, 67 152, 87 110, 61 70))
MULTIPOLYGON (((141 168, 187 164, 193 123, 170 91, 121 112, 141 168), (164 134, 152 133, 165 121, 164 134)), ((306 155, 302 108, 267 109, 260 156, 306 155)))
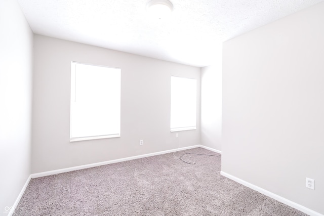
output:
POLYGON ((197 81, 171 76, 171 132, 196 129, 197 81))

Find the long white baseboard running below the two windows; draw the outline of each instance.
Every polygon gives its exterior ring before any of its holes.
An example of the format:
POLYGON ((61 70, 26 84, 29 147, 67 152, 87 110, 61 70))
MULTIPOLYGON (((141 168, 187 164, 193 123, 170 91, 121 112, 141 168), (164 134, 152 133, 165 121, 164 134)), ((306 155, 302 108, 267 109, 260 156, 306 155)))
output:
POLYGON ((142 154, 142 155, 137 155, 137 156, 132 156, 132 157, 125 157, 125 158, 120 158, 120 159, 115 159, 115 160, 108 160, 108 161, 103 161, 103 162, 99 162, 99 163, 91 163, 91 164, 73 166, 73 167, 68 167, 68 168, 63 168, 63 169, 56 169, 56 170, 45 171, 45 172, 38 172, 38 173, 35 173, 35 174, 31 174, 31 178, 35 179, 35 178, 39 178, 39 177, 60 174, 60 173, 63 173, 63 172, 75 171, 75 170, 79 170, 79 169, 86 169, 86 168, 102 166, 102 165, 111 164, 111 163, 118 163, 118 162, 122 162, 122 161, 128 161, 128 160, 134 160, 134 159, 139 159, 139 158, 143 158, 143 157, 150 157, 150 156, 160 155, 160 154, 167 154, 167 153, 170 153, 170 152, 193 149, 193 148, 197 148, 197 147, 204 148, 201 145, 182 147, 182 148, 171 149, 171 150, 160 151, 160 152, 154 152, 154 153, 149 153, 149 154, 142 154))

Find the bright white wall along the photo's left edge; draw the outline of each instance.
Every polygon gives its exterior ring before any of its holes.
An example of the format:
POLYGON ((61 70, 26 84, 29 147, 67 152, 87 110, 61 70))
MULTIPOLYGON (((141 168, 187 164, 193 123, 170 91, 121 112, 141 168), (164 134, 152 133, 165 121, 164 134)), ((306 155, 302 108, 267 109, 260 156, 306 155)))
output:
POLYGON ((32 32, 16 1, 0 1, 0 214, 30 175, 32 32))

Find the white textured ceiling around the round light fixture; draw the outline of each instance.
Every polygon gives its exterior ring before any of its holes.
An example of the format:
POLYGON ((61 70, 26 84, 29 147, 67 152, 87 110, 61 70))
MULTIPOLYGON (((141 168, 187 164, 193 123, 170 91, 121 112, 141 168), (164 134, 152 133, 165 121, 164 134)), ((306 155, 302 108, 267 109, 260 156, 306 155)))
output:
POLYGON ((148 0, 18 0, 36 34, 198 67, 223 41, 322 1, 171 0, 171 17, 159 20, 148 0))

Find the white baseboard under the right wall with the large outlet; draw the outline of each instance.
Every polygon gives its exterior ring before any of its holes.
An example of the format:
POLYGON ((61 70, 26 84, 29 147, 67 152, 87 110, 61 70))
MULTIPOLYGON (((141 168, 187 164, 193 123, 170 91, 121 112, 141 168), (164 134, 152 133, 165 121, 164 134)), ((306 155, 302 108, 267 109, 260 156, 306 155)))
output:
POLYGON ((324 216, 321 213, 318 213, 318 212, 316 212, 314 210, 311 210, 309 208, 306 208, 305 206, 302 206, 302 205, 300 205, 300 204, 298 204, 296 202, 293 202, 293 201, 291 201, 289 199, 286 199, 286 198, 281 197, 281 196, 279 196, 277 194, 274 194, 274 193, 272 193, 270 191, 267 191, 267 190, 265 190, 263 188, 260 188, 260 187, 258 187, 256 185, 253 185, 253 184, 251 184, 249 182, 246 182, 246 181, 241 180, 241 179, 239 179, 237 177, 234 177, 234 176, 232 176, 230 174, 227 174, 224 171, 221 171, 221 175, 228 178, 228 179, 231 179, 231 180, 233 180, 233 181, 235 181, 237 183, 240 183, 240 184, 242 184, 244 186, 247 186, 247 187, 249 187, 249 188, 251 188, 251 189, 253 189, 255 191, 258 191, 258 192, 260 192, 260 193, 262 193, 262 194, 264 194, 264 195, 266 195, 268 197, 271 197, 271 198, 273 198, 273 199, 275 199, 275 200, 277 200, 279 202, 282 202, 282 203, 284 203, 286 205, 289 205, 289 206, 291 206, 293 208, 296 208, 296 209, 298 209, 298 210, 300 210, 300 211, 302 211, 302 212, 304 212, 306 214, 309 214, 309 215, 312 215, 312 216, 324 216))

